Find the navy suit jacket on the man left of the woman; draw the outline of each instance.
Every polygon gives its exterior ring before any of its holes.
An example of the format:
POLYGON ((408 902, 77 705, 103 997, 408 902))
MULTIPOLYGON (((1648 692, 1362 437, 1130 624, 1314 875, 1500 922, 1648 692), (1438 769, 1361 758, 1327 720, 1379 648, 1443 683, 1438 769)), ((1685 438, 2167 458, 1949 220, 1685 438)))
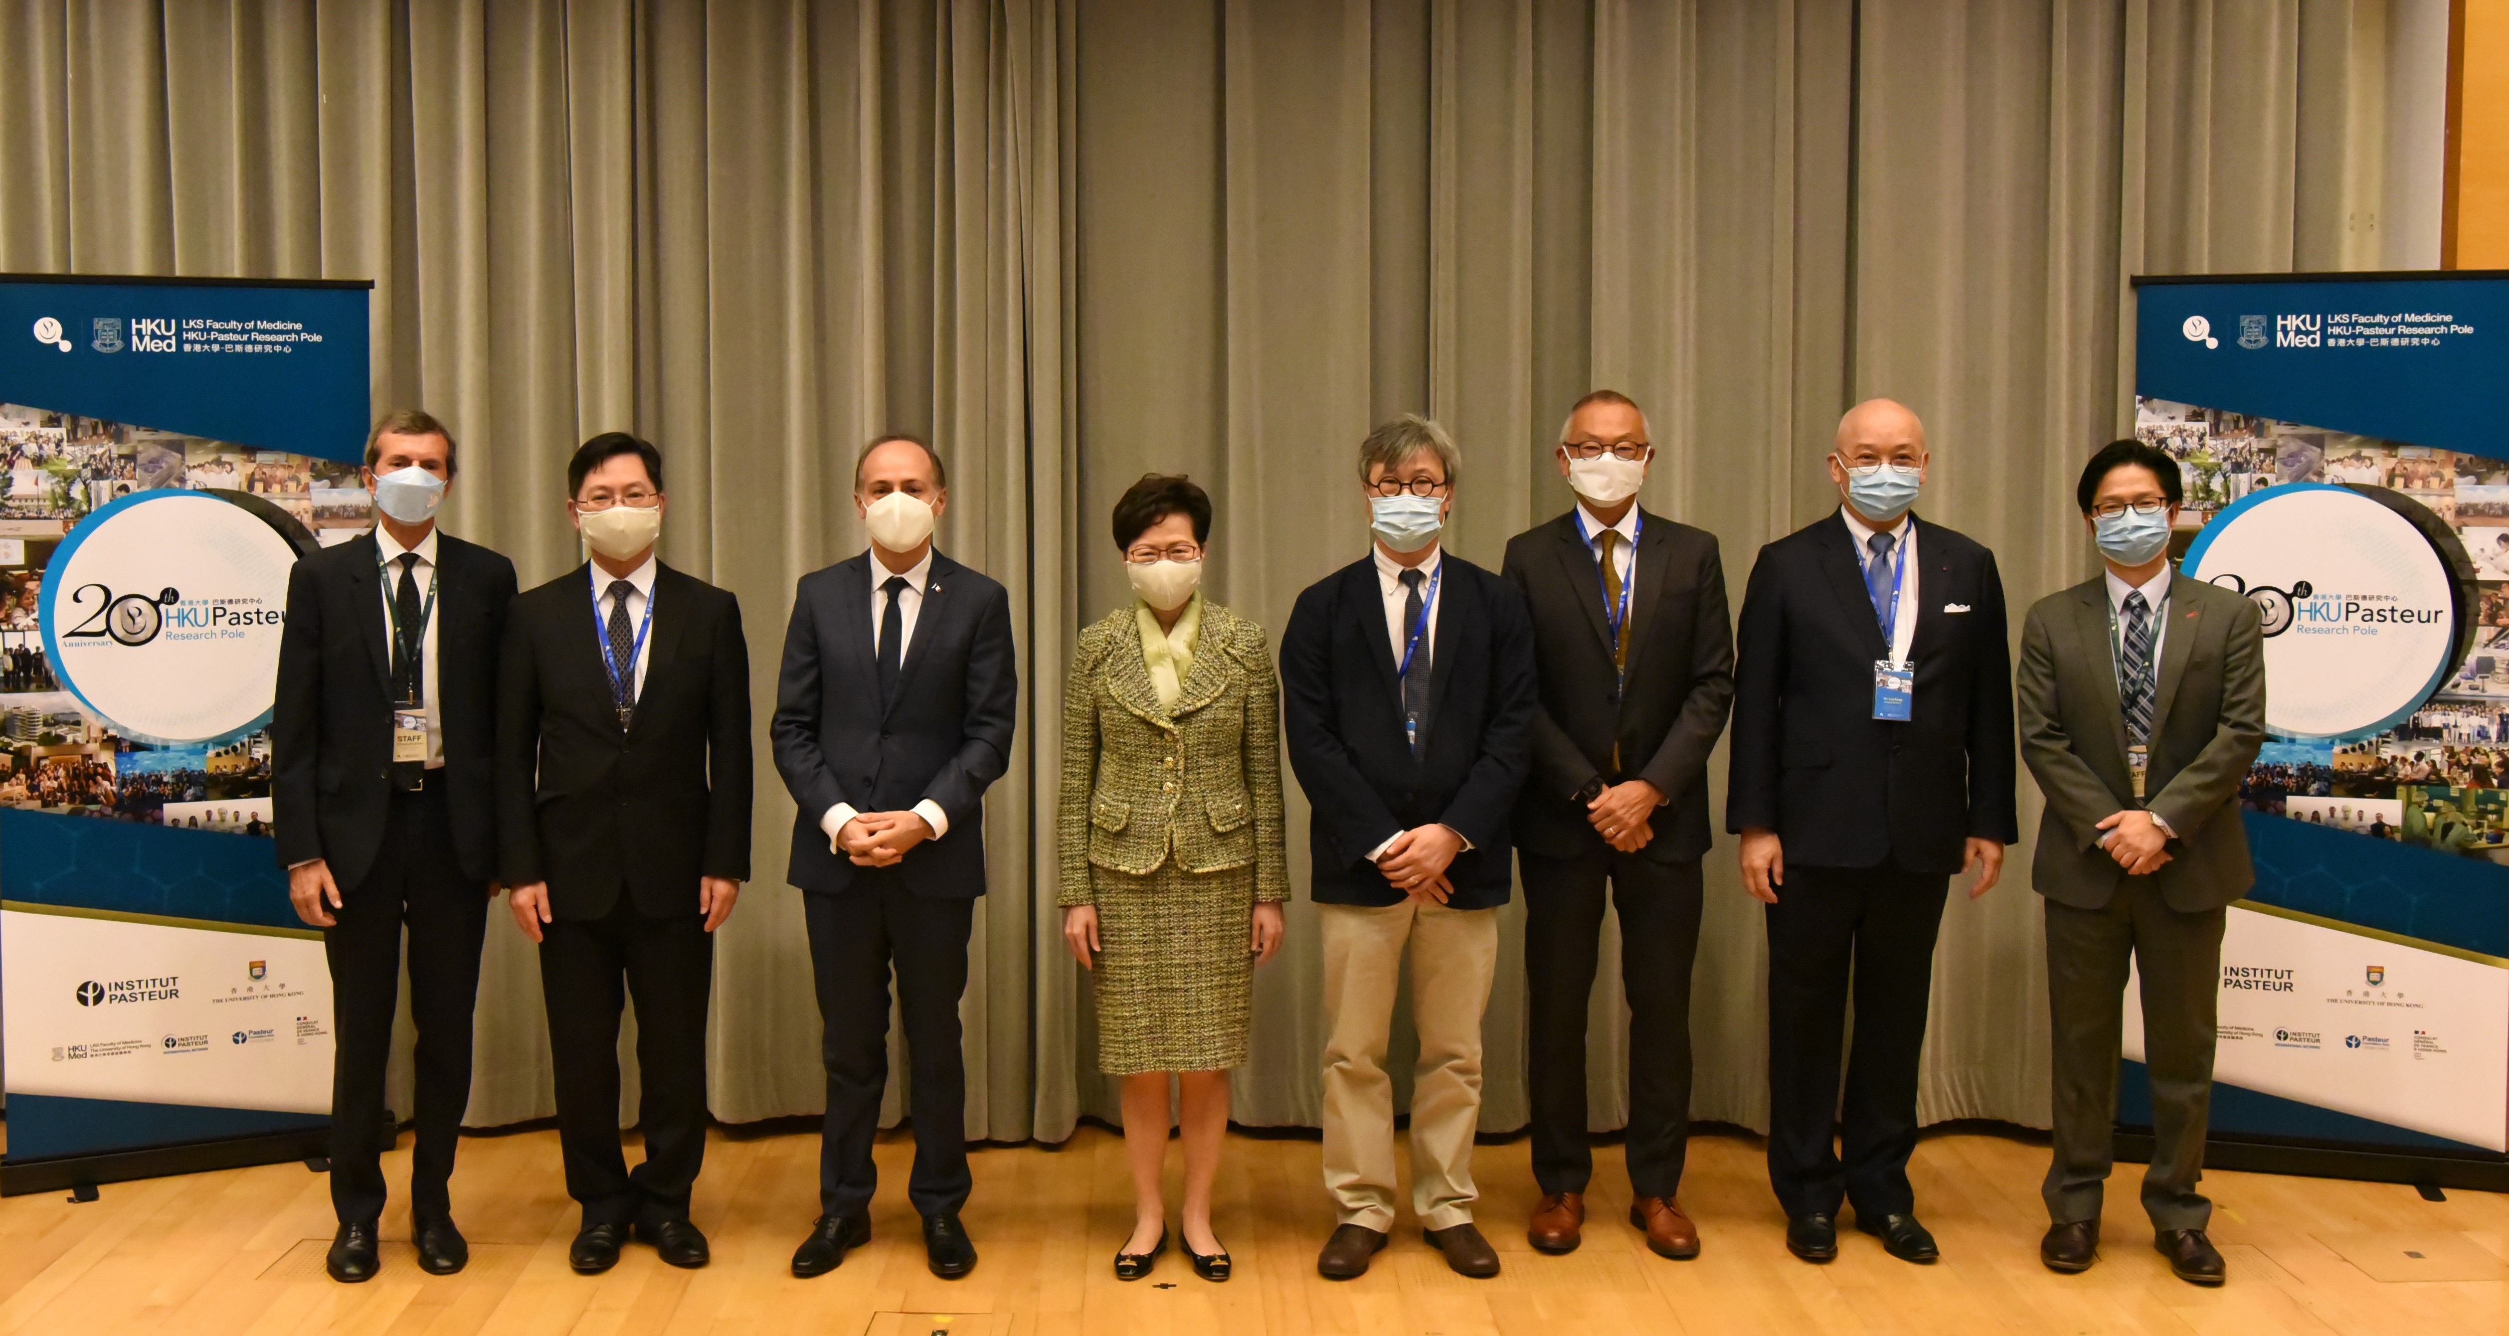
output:
POLYGON ((1009 767, 1019 724, 1011 594, 933 551, 898 664, 898 699, 883 709, 871 564, 863 551, 805 574, 793 592, 768 727, 775 770, 798 805, 785 877, 833 895, 876 875, 913 895, 968 900, 984 895, 984 790, 1009 767), (948 835, 916 845, 896 867, 856 867, 828 850, 818 827, 838 802, 903 812, 926 797, 948 815, 948 835))

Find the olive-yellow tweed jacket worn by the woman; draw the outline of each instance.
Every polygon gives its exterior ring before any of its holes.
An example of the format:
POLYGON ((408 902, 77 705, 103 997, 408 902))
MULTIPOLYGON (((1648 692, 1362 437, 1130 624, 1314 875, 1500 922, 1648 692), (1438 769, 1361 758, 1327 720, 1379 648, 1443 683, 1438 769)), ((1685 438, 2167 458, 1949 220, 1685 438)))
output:
POLYGON ((1262 627, 1204 602, 1177 707, 1159 704, 1132 607, 1081 632, 1064 687, 1059 905, 1094 905, 1091 867, 1147 875, 1254 867, 1290 897, 1280 797, 1280 679, 1262 627))

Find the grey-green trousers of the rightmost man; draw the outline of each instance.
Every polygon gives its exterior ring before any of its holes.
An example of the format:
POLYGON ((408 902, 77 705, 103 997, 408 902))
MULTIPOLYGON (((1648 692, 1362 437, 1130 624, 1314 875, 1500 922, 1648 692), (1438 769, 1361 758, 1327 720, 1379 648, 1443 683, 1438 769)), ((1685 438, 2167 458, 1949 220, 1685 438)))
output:
POLYGON ((2055 1158, 2040 1196, 2050 1221, 2100 1218, 2100 1188, 2118 1146, 2120 998, 2133 960, 2143 978, 2143 1060, 2153 1075, 2153 1163, 2143 1171, 2143 1211, 2153 1228, 2210 1223, 2213 1203, 2195 1183, 2213 1113, 2225 920, 2223 910, 2173 910, 2150 877, 2125 877, 2098 910, 2047 900, 2055 1158))

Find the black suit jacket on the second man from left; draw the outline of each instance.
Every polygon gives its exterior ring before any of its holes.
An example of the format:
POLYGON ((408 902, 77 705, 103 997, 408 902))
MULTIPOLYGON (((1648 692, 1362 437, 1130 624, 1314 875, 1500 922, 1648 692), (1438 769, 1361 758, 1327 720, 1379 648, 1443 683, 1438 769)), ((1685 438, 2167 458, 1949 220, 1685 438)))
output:
POLYGON ((617 897, 698 912, 698 880, 750 877, 750 647, 740 599, 660 566, 645 689, 620 732, 587 566, 514 599, 497 679, 497 840, 507 885, 549 915, 617 897))

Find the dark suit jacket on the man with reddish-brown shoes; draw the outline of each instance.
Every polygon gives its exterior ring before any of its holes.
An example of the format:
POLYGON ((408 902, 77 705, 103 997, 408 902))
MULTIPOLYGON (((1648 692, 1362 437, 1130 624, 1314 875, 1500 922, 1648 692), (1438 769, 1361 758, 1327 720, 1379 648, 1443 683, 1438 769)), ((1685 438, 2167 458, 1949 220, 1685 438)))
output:
POLYGON ((1611 664, 1601 571, 1576 511, 1508 539, 1503 571, 1525 597, 1541 667, 1533 775, 1515 800, 1515 845, 1536 855, 1576 857, 1603 842, 1573 797, 1596 777, 1646 780, 1663 792, 1641 857, 1689 862, 1714 840, 1706 767, 1734 707, 1724 561, 1714 534, 1646 509, 1638 516, 1626 692, 1611 664))

